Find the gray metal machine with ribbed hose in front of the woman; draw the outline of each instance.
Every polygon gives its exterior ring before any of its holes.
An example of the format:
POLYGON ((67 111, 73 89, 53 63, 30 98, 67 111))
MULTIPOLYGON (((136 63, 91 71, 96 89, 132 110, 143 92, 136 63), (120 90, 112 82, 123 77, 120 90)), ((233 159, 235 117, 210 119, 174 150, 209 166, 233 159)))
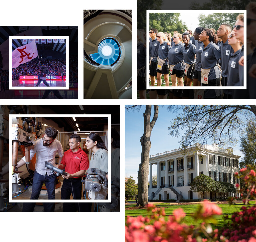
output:
POLYGON ((82 180, 84 189, 90 199, 104 200, 108 195, 108 179, 100 169, 89 168, 85 180, 82 180))

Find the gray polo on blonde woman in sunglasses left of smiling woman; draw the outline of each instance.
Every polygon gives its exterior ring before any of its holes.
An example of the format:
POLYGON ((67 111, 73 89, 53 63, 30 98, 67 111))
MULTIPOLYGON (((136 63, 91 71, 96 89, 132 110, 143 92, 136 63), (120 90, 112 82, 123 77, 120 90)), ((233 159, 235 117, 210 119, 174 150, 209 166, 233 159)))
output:
POLYGON ((185 49, 184 44, 180 42, 179 44, 173 44, 172 48, 169 50, 168 58, 170 65, 176 65, 174 68, 176 70, 185 70, 185 65, 183 65, 183 50, 185 49))

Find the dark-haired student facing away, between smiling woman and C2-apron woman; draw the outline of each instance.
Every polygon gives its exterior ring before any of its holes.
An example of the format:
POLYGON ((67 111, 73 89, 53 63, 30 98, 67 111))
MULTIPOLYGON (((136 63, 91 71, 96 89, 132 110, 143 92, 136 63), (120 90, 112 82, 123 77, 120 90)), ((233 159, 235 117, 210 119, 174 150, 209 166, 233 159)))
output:
POLYGON ((204 27, 198 27, 195 29, 194 38, 197 40, 196 44, 196 64, 195 71, 193 75, 193 87, 201 86, 201 53, 203 50, 204 43, 199 41, 199 35, 204 30, 204 27))

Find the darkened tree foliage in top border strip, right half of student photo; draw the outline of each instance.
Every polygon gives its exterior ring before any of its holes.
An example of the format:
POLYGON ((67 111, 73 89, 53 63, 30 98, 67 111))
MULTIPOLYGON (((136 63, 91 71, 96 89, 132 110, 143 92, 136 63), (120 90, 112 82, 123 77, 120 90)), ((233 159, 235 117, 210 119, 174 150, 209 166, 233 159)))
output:
POLYGON ((245 9, 250 0, 210 0, 202 3, 202 1, 193 1, 190 9, 245 9))

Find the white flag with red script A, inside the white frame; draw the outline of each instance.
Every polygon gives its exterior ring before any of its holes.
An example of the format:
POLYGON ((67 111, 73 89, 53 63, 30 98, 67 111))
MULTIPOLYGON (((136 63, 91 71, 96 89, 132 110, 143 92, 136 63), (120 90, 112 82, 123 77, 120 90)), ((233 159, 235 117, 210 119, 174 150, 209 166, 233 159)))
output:
POLYGON ((36 41, 33 39, 31 43, 18 47, 13 51, 13 68, 25 64, 30 60, 35 59, 37 56, 36 41))

